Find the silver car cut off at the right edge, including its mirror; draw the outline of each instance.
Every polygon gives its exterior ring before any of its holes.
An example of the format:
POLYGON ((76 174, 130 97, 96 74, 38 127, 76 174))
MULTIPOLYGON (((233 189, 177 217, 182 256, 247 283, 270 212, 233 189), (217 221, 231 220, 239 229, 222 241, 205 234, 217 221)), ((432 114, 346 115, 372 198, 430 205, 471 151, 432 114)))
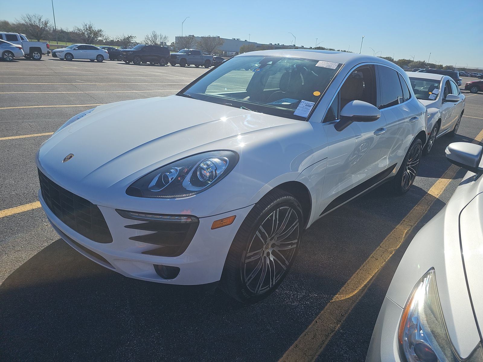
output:
POLYGON ((449 161, 469 172, 401 259, 367 362, 483 361, 482 154, 472 143, 446 148, 449 161))

